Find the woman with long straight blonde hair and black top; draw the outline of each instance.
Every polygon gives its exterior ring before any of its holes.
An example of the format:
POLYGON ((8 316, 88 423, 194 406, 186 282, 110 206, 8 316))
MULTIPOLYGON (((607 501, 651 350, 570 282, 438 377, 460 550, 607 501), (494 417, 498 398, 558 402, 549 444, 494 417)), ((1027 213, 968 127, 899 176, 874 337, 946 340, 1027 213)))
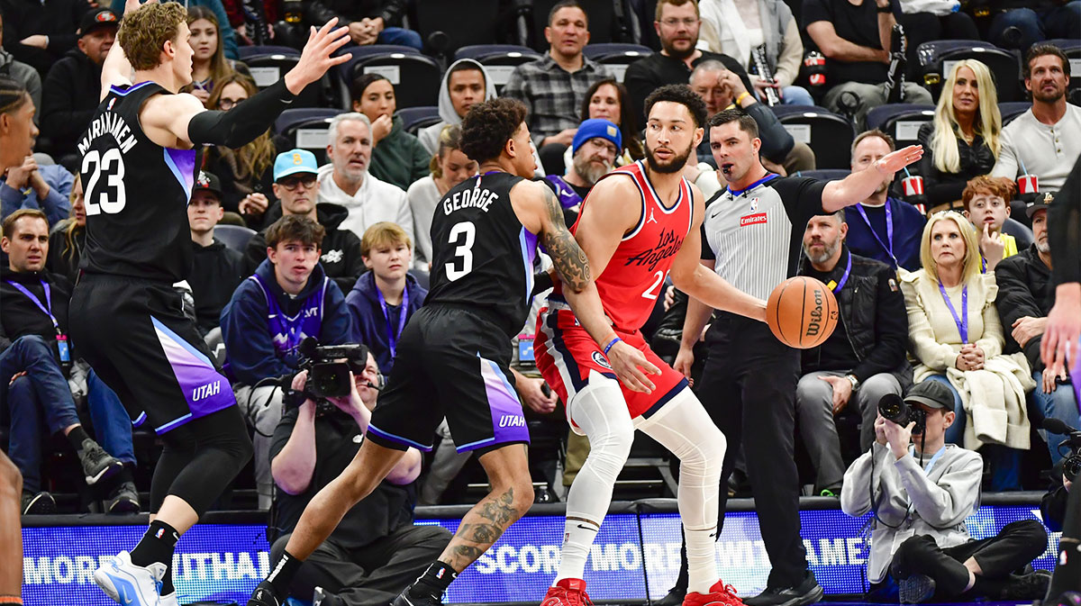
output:
POLYGON ((991 70, 975 59, 953 66, 933 122, 920 126, 923 191, 932 208, 952 208, 969 179, 991 172, 1001 148, 1002 116, 991 70))

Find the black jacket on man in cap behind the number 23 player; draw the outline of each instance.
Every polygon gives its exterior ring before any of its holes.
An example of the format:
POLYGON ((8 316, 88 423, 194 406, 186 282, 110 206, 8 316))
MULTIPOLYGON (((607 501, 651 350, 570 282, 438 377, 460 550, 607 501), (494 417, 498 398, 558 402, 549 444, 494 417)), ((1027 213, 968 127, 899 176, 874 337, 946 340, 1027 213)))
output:
POLYGON ((53 64, 41 91, 41 134, 49 137, 54 154, 76 152, 101 95, 102 66, 79 49, 53 64))

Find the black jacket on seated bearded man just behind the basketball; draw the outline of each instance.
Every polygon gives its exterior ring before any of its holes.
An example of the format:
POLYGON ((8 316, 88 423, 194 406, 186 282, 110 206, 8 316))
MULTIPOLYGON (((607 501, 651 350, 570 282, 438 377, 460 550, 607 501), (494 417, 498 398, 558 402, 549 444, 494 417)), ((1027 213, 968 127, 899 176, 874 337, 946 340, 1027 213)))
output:
MULTIPOLYGON (((900 294, 896 274, 884 262, 852 255, 843 245, 841 258, 830 272, 830 279, 840 282, 852 256, 852 272, 837 294, 841 315, 852 350, 859 363, 852 374, 860 381, 879 373, 890 373, 897 377, 902 387, 911 382, 912 368, 905 360, 908 345, 908 312, 905 297, 900 294)), ((809 275, 812 269, 806 258, 801 259, 800 274, 809 275)), ((803 350, 802 372, 838 371, 822 364, 822 348, 803 350)))

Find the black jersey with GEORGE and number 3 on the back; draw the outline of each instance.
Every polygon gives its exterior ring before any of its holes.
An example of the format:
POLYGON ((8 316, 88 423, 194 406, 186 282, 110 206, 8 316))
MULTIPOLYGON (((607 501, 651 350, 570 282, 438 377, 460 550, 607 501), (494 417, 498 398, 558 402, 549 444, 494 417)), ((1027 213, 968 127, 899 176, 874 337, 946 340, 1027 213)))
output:
POLYGON ((510 204, 522 177, 492 172, 451 188, 431 220, 431 289, 425 305, 468 306, 507 337, 525 324, 537 237, 510 204))

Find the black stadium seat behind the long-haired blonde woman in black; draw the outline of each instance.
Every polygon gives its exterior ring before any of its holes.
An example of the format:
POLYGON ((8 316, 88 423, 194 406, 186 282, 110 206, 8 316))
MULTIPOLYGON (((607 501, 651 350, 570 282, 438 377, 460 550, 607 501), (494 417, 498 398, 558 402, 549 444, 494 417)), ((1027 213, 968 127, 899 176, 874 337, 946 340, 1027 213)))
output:
POLYGON ((1020 59, 1017 55, 999 49, 989 42, 978 40, 933 40, 917 49, 923 83, 935 100, 942 92, 943 83, 949 76, 953 63, 961 59, 976 59, 986 65, 995 76, 995 87, 999 102, 1022 99, 1020 59))

